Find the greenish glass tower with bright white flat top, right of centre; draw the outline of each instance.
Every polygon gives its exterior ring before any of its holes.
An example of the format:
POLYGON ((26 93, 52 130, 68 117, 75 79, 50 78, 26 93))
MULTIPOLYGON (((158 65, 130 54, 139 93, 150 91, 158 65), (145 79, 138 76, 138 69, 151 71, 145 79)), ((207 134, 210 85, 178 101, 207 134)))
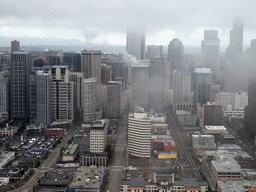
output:
POLYGON ((196 68, 194 71, 193 108, 203 106, 211 100, 212 71, 209 68, 196 68))

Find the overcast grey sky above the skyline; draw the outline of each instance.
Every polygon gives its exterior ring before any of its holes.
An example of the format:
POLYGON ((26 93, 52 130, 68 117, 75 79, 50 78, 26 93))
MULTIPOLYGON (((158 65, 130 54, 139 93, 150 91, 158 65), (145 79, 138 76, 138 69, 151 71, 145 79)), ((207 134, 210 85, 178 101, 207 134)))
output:
POLYGON ((255 0, 0 0, 0 36, 61 38, 125 45, 130 25, 143 25, 147 45, 201 46, 205 29, 229 44, 233 18, 244 19, 244 47, 256 39, 255 0))

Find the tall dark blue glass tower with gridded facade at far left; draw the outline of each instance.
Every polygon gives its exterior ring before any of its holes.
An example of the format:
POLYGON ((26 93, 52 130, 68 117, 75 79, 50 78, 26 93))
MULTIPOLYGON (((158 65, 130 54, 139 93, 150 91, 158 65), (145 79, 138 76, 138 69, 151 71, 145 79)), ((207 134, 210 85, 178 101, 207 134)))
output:
POLYGON ((28 120, 29 117, 29 69, 30 55, 27 52, 11 54, 10 107, 11 118, 28 120))

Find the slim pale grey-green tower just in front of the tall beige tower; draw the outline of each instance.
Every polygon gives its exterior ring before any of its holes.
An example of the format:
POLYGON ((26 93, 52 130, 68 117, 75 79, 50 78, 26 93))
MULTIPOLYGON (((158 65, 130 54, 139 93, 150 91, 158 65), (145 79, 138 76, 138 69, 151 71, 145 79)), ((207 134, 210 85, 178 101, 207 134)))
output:
POLYGON ((91 77, 83 81, 83 121, 93 122, 96 119, 96 82, 97 79, 91 77))

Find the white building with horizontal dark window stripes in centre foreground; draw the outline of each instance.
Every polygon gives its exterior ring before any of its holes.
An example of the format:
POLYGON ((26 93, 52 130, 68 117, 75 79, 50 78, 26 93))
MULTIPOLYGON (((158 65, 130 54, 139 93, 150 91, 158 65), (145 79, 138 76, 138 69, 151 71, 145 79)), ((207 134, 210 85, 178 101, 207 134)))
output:
POLYGON ((144 108, 135 108, 128 117, 128 153, 131 156, 150 158, 151 118, 144 108))

